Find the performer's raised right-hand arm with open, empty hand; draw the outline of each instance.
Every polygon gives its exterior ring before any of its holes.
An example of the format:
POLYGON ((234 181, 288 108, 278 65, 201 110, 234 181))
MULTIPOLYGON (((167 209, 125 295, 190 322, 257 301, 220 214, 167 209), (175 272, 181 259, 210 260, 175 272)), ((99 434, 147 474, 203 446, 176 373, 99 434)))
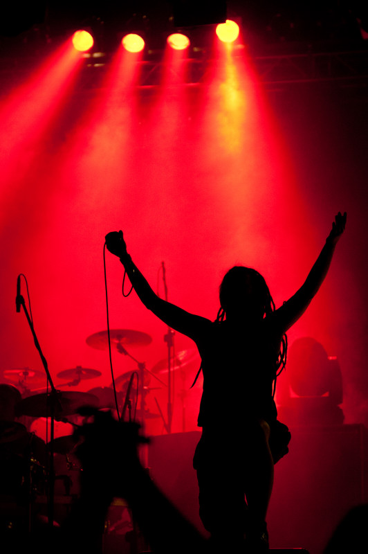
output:
POLYGON ((327 271, 329 271, 335 246, 338 244, 338 240, 344 232, 346 221, 346 212, 344 215, 341 215, 339 212, 338 215, 335 216, 331 232, 326 238, 326 243, 322 248, 320 256, 318 256, 315 261, 315 264, 309 272, 304 285, 300 287, 294 296, 291 296, 291 298, 289 298, 284 305, 279 307, 279 309, 274 312, 275 320, 278 325, 281 325, 283 332, 288 330, 288 328, 290 328, 291 325, 293 325, 293 323, 295 323, 295 321, 297 321, 297 319, 304 314, 306 308, 311 303, 313 296, 315 296, 318 289, 322 285, 327 271))

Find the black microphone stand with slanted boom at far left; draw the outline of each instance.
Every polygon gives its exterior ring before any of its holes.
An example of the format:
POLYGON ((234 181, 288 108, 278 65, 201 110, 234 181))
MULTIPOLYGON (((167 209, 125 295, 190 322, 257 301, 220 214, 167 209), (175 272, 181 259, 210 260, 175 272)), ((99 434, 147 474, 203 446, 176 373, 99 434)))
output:
MULTIPOLYGON (((53 521, 54 521, 54 497, 55 497, 55 468, 54 468, 55 407, 57 403, 59 404, 59 400, 57 398, 57 390, 53 384, 53 379, 51 379, 51 375, 48 370, 48 364, 47 364, 46 358, 42 353, 41 346, 39 345, 39 341, 35 333, 35 328, 33 327, 33 322, 30 319, 30 315, 28 314, 26 303, 24 302, 24 297, 21 296, 21 294, 17 294, 16 303, 17 303, 17 306, 19 305, 23 307, 24 314, 26 315, 26 319, 30 327, 30 331, 33 334, 35 347, 37 348, 39 352, 39 356, 41 357, 41 361, 44 366, 44 370, 46 372, 47 381, 50 384, 50 388, 51 388, 51 392, 48 396, 48 398, 50 399, 50 449, 49 449, 50 454, 48 459, 48 463, 49 463, 48 465, 48 526, 51 530, 53 528, 53 521)), ((30 527, 30 522, 29 522, 29 527, 30 527)))

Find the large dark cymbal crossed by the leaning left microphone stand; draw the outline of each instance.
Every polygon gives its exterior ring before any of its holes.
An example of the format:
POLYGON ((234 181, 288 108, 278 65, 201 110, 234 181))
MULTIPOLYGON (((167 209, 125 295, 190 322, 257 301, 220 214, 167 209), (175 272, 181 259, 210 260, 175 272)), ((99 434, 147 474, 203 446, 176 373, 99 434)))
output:
MULTIPOLYGON (((98 398, 89 393, 76 391, 57 391, 55 419, 76 413, 81 406, 98 406, 98 398)), ((19 413, 30 415, 33 418, 50 416, 50 395, 46 393, 28 396, 19 402, 19 413)))

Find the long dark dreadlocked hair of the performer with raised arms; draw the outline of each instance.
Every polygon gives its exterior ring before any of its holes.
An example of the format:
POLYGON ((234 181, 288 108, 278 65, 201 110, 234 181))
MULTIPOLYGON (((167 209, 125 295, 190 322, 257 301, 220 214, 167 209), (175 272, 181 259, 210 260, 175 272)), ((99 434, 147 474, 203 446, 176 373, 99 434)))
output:
MULTIPOLYGON (((234 300, 234 294, 237 294, 237 287, 234 286, 234 283, 239 283, 241 285, 244 283, 246 277, 250 277, 252 280, 252 287, 254 290, 253 296, 254 300, 259 303, 260 313, 263 318, 266 318, 272 312, 275 311, 275 302, 273 297, 270 294, 270 289, 266 284, 266 280, 261 274, 250 267, 244 267, 242 265, 235 265, 225 274, 220 285, 220 309, 217 312, 216 322, 221 323, 226 319, 226 307, 234 300)), ((276 380, 279 374, 284 370, 286 366, 286 355, 288 350, 288 337, 284 334, 282 337, 281 348, 277 359, 275 360, 275 377, 273 379, 273 397, 276 392, 276 380)))

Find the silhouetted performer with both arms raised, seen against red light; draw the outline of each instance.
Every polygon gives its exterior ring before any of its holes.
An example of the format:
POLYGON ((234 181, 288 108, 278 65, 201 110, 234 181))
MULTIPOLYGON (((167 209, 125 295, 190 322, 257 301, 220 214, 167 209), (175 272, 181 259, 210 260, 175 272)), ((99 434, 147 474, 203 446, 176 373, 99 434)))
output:
POLYGON ((122 231, 106 236, 107 248, 120 258, 142 303, 199 349, 203 395, 198 425, 203 433, 194 467, 201 519, 219 551, 243 551, 244 533, 250 551, 268 549, 273 466, 288 451, 290 438, 277 422, 273 400, 286 361, 285 333, 320 288, 345 222, 346 213, 339 212, 304 285, 277 310, 257 271, 230 269, 221 283, 216 321, 159 298, 127 253, 122 231))

